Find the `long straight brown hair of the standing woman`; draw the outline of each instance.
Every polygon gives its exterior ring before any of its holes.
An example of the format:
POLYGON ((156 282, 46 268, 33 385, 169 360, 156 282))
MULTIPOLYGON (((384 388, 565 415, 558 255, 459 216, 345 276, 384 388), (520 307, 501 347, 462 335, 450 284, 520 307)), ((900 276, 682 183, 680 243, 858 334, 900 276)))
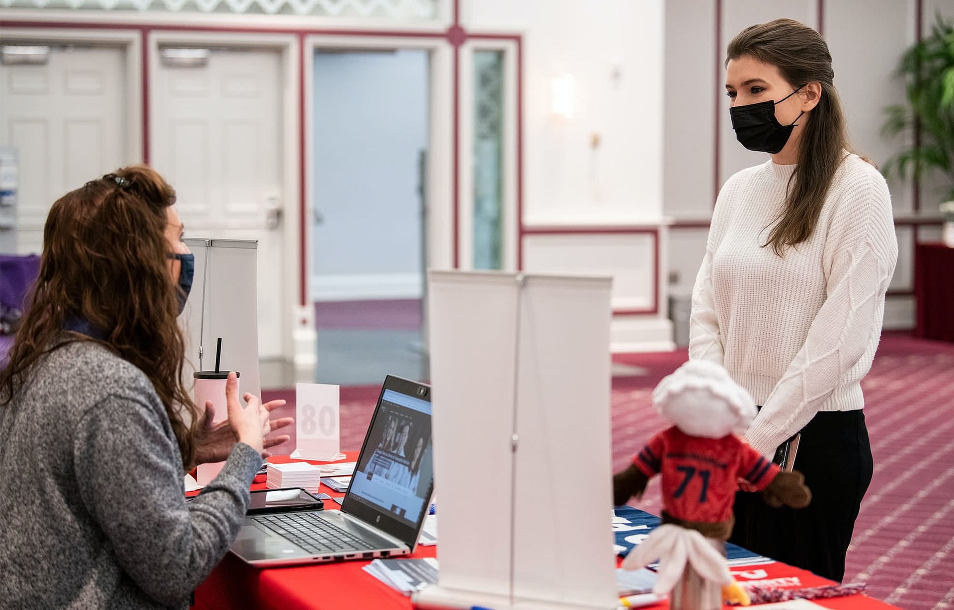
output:
POLYGON ((787 247, 808 239, 818 224, 828 188, 848 150, 844 113, 831 53, 816 30, 793 19, 750 26, 729 43, 725 63, 746 55, 778 68, 793 89, 821 84, 818 105, 806 114, 807 121, 802 119, 798 165, 789 178, 787 205, 764 244, 781 256, 787 247))

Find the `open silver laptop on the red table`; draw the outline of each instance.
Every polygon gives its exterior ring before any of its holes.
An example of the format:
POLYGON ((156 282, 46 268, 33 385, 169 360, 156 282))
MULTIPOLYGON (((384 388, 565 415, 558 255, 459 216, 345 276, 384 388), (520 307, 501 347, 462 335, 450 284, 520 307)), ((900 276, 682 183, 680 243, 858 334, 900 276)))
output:
POLYGON ((246 517, 229 550, 260 567, 409 555, 434 489, 430 387, 387 376, 342 509, 246 517))

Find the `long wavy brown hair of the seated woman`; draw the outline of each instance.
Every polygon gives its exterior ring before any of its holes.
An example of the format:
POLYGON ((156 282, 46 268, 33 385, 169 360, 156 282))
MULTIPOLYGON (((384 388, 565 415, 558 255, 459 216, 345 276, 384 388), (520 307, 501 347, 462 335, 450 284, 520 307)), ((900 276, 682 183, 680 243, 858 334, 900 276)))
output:
POLYGON ((96 341, 138 367, 156 388, 184 464, 195 458, 198 410, 182 383, 185 342, 169 273, 166 208, 176 192, 155 170, 108 173, 53 203, 40 276, 17 330, 0 404, 9 404, 37 360, 73 341, 96 341), (85 320, 102 338, 63 334, 85 320))

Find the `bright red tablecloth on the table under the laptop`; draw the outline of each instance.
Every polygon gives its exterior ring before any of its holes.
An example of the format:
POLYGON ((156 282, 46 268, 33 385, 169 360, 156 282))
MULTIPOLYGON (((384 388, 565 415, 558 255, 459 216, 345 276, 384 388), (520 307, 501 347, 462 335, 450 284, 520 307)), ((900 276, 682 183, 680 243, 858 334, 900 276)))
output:
MULTIPOLYGON (((347 458, 355 460, 357 452, 347 458)), ((288 461, 288 458, 271 458, 272 461, 288 461)), ((253 489, 262 489, 256 484, 253 489)), ((343 494, 321 485, 321 491, 333 498, 343 494)), ((327 508, 338 508, 334 502, 326 502, 327 508)), ((417 553, 409 557, 436 557, 437 547, 419 546, 417 553)), ((408 598, 362 570, 368 561, 342 561, 300 567, 271 568, 259 570, 250 567, 241 559, 229 554, 196 591, 194 607, 201 610, 412 610, 408 598)), ((811 572, 799 570, 784 563, 770 563, 733 569, 739 582, 753 580, 785 579, 786 588, 812 587, 831 584, 811 572)), ((779 582, 780 583, 780 582, 779 582)), ((851 596, 835 600, 816 600, 816 603, 835 610, 883 610, 894 608, 878 600, 864 596, 851 596)), ((648 606, 662 610, 666 604, 648 606)), ((731 606, 726 606, 727 608, 731 606)))

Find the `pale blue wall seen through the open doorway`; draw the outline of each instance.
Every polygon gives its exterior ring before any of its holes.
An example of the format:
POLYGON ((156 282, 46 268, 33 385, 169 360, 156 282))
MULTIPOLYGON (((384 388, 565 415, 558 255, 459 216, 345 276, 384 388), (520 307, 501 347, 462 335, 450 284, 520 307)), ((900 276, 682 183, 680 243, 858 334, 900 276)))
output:
POLYGON ((426 51, 316 53, 312 295, 421 295, 426 51))

